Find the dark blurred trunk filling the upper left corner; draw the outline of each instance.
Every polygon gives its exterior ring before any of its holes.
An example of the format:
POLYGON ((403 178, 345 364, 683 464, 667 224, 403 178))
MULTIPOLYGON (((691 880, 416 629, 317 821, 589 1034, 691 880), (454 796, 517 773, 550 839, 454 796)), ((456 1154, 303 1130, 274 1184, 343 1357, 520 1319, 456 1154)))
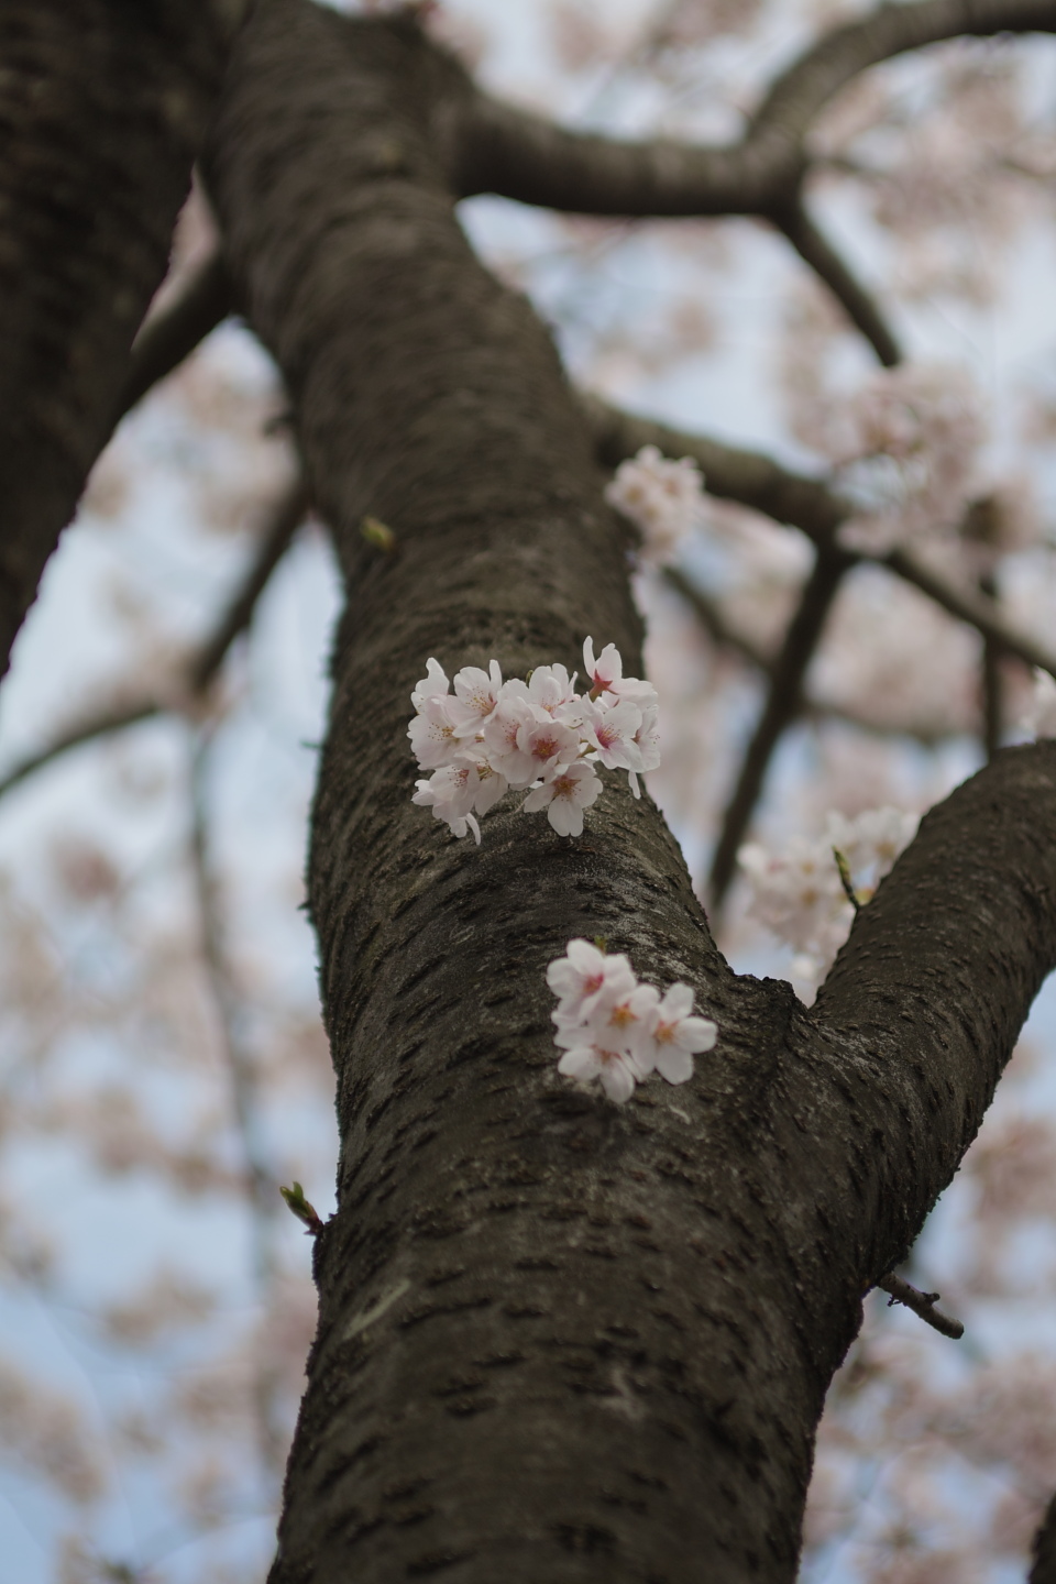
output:
POLYGON ((114 426, 241 11, 0 6, 0 675, 114 426))

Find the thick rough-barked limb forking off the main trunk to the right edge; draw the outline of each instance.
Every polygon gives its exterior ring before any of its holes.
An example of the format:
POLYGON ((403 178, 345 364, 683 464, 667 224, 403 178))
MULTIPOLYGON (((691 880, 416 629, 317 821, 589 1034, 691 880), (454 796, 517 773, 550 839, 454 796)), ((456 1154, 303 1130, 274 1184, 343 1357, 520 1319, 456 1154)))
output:
POLYGON ((1042 741, 1002 749, 925 816, 819 992, 819 1050, 858 1126, 866 1280, 906 1258, 1053 966, 1056 743, 1042 741))

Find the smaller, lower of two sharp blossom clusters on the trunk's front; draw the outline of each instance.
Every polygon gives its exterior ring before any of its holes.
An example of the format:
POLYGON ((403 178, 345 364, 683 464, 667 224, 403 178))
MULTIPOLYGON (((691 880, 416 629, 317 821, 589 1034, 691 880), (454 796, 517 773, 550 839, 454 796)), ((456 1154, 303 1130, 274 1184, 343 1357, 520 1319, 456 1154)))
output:
POLYGON ((693 1017, 689 985, 674 984, 660 996, 655 985, 638 984, 627 957, 591 941, 568 941, 565 955, 546 969, 546 984, 557 996, 551 1012, 554 1044, 564 1050, 557 1071, 581 1083, 598 1079, 617 1106, 651 1072, 686 1083, 693 1053, 716 1042, 716 1025, 693 1017))

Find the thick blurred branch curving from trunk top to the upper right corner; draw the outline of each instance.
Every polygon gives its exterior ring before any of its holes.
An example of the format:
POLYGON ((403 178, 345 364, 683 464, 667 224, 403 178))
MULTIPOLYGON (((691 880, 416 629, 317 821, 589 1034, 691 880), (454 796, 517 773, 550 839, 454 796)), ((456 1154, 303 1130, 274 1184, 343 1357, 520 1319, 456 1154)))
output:
POLYGON ((483 93, 465 101, 458 185, 578 214, 776 214, 798 188, 804 138, 860 71, 958 35, 1051 32, 1053 0, 918 0, 833 29, 784 71, 739 143, 625 143, 556 127, 483 93))

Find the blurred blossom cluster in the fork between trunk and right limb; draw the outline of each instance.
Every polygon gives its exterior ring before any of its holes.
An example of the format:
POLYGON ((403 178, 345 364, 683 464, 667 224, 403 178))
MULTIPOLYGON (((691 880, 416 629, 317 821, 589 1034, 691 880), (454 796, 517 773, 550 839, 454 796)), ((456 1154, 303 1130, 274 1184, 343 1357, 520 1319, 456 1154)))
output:
POLYGON ((738 852, 752 900, 749 914, 798 954, 793 973, 817 980, 847 939, 853 909, 833 849, 847 860, 860 901, 868 901, 917 833, 918 816, 872 808, 853 819, 830 813, 817 841, 793 836, 784 852, 749 843, 738 852))

